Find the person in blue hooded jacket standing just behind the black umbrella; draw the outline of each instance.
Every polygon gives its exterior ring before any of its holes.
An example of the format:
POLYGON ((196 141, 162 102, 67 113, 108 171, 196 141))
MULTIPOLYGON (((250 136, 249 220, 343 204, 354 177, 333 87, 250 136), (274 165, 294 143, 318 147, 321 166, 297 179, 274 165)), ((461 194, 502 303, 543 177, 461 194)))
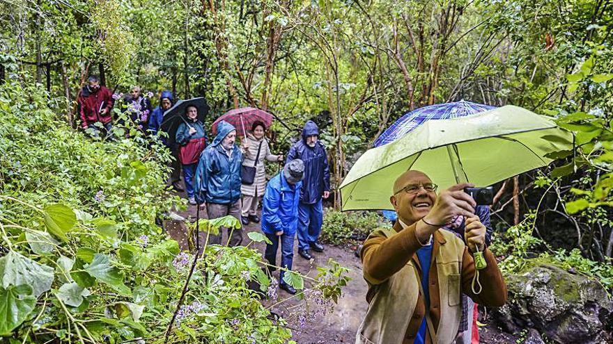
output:
MULTIPOLYGON (((172 92, 162 91, 162 95, 160 95, 160 105, 153 109, 153 112, 149 116, 149 120, 147 122, 147 131, 152 137, 157 136, 157 133, 160 131, 162 126, 162 122, 164 122, 164 113, 166 113, 166 110, 171 108, 173 104, 174 99, 172 92)), ((179 192, 183 191, 183 188, 181 187, 181 163, 179 161, 179 147, 178 145, 169 145, 168 141, 163 136, 160 136, 159 138, 162 143, 164 143, 164 145, 170 149, 174 158, 169 165, 171 168, 170 183, 175 190, 179 192)))

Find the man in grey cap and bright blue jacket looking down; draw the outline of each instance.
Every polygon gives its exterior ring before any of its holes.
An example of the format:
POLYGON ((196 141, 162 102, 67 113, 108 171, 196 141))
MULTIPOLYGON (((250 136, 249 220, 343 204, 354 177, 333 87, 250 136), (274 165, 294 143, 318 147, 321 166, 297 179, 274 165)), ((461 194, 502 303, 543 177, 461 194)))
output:
MULTIPOLYGON (((262 208, 262 231, 272 242, 266 245, 264 258, 271 265, 277 265, 277 248, 281 240, 281 267, 292 269, 294 238, 298 225, 298 202, 304 178, 304 163, 295 159, 287 163, 283 172, 268 182, 262 208)), ((269 269, 274 271, 274 268, 269 269)), ((290 294, 296 290, 283 280, 284 271, 279 273, 279 288, 290 294)))

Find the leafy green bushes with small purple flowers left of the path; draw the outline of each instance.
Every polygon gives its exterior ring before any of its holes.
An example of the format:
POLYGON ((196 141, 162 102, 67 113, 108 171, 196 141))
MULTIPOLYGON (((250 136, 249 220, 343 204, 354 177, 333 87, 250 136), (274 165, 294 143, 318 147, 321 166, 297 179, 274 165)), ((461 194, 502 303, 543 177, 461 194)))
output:
MULTIPOLYGON (((196 260, 155 225, 181 202, 166 192, 166 149, 149 147, 129 127, 123 129, 129 139, 88 138, 54 110, 42 90, 0 87, 6 343, 292 343, 286 320, 258 300, 274 285, 251 243, 206 245, 196 260)), ((198 223, 208 232, 240 225, 231 217, 198 223)), ((257 233, 249 238, 266 240, 257 233)), ((309 284, 336 300, 347 270, 330 265, 309 284)), ((308 291, 307 277, 286 277, 308 291)))

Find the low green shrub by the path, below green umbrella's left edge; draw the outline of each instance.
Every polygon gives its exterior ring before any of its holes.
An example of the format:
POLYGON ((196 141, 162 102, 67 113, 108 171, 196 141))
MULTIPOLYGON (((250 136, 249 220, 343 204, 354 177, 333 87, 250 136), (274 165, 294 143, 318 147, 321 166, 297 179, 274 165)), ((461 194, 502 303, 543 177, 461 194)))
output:
POLYGON ((371 231, 380 227, 381 221, 375 212, 341 213, 327 208, 320 239, 332 245, 362 243, 371 231))

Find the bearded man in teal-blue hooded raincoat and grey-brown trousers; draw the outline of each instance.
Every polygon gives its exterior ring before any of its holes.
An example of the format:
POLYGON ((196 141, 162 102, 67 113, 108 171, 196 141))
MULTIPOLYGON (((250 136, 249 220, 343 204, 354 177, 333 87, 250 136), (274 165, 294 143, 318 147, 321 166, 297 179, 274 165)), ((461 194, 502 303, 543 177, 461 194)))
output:
MULTIPOLYGON (((221 121, 217 125, 217 136, 200 156, 196 169, 196 202, 206 202, 208 218, 222 218, 232 215, 240 222, 240 166, 242 151, 234 144, 236 129, 232 124, 221 121)), ((226 229, 228 230, 228 229, 226 229)), ((222 243, 222 229, 219 235, 209 236, 209 243, 222 243)), ((230 245, 242 243, 242 228, 228 231, 230 245)), ((200 247, 204 246, 206 235, 201 235, 200 247)))

